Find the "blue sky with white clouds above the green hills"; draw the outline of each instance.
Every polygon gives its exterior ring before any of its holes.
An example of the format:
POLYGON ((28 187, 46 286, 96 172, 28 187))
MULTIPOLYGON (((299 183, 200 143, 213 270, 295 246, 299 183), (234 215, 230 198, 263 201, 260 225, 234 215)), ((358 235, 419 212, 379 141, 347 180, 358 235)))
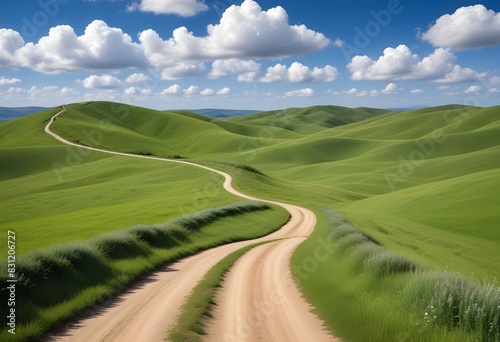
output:
POLYGON ((0 1, 0 106, 500 105, 500 2, 0 1))

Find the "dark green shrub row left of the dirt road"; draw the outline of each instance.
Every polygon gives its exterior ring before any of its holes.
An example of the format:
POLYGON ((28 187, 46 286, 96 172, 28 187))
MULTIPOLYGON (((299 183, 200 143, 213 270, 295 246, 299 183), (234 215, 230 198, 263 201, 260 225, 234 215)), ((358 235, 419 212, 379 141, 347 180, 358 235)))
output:
MULTIPOLYGON (((37 312, 67 301, 92 286, 114 281, 111 263, 149 256, 152 248, 169 249, 190 240, 197 231, 217 220, 268 210, 262 202, 245 201, 206 209, 163 224, 136 225, 95 236, 81 243, 54 245, 18 256, 16 260, 16 319, 28 323, 37 312)), ((0 302, 7 303, 7 262, 0 262, 0 302)), ((1 305, 3 327, 9 307, 1 305)))

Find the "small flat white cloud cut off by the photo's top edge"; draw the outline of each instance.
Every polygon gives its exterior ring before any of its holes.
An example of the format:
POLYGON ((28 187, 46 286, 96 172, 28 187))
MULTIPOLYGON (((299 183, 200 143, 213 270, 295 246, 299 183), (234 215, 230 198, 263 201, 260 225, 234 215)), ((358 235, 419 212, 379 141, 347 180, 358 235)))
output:
POLYGON ((141 0, 129 5, 128 10, 153 12, 155 14, 177 14, 181 17, 192 17, 208 10, 208 6, 197 0, 141 0))

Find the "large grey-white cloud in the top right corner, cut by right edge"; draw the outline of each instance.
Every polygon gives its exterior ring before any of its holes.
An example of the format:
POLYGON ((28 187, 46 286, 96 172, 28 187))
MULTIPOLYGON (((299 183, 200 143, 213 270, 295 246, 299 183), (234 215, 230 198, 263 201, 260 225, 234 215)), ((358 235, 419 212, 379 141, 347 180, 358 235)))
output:
POLYGON ((420 38, 434 46, 458 50, 500 45, 500 13, 483 5, 461 7, 436 20, 420 38))

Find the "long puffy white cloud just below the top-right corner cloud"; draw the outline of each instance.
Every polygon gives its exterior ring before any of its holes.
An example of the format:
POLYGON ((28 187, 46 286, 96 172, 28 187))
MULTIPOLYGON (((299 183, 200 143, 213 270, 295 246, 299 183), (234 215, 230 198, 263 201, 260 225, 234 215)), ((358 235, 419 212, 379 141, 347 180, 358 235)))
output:
POLYGON ((370 81, 432 80, 451 83, 475 81, 486 76, 455 62, 456 56, 449 49, 438 48, 420 59, 406 45, 399 45, 386 48, 377 60, 354 56, 347 69, 353 80, 370 81))

